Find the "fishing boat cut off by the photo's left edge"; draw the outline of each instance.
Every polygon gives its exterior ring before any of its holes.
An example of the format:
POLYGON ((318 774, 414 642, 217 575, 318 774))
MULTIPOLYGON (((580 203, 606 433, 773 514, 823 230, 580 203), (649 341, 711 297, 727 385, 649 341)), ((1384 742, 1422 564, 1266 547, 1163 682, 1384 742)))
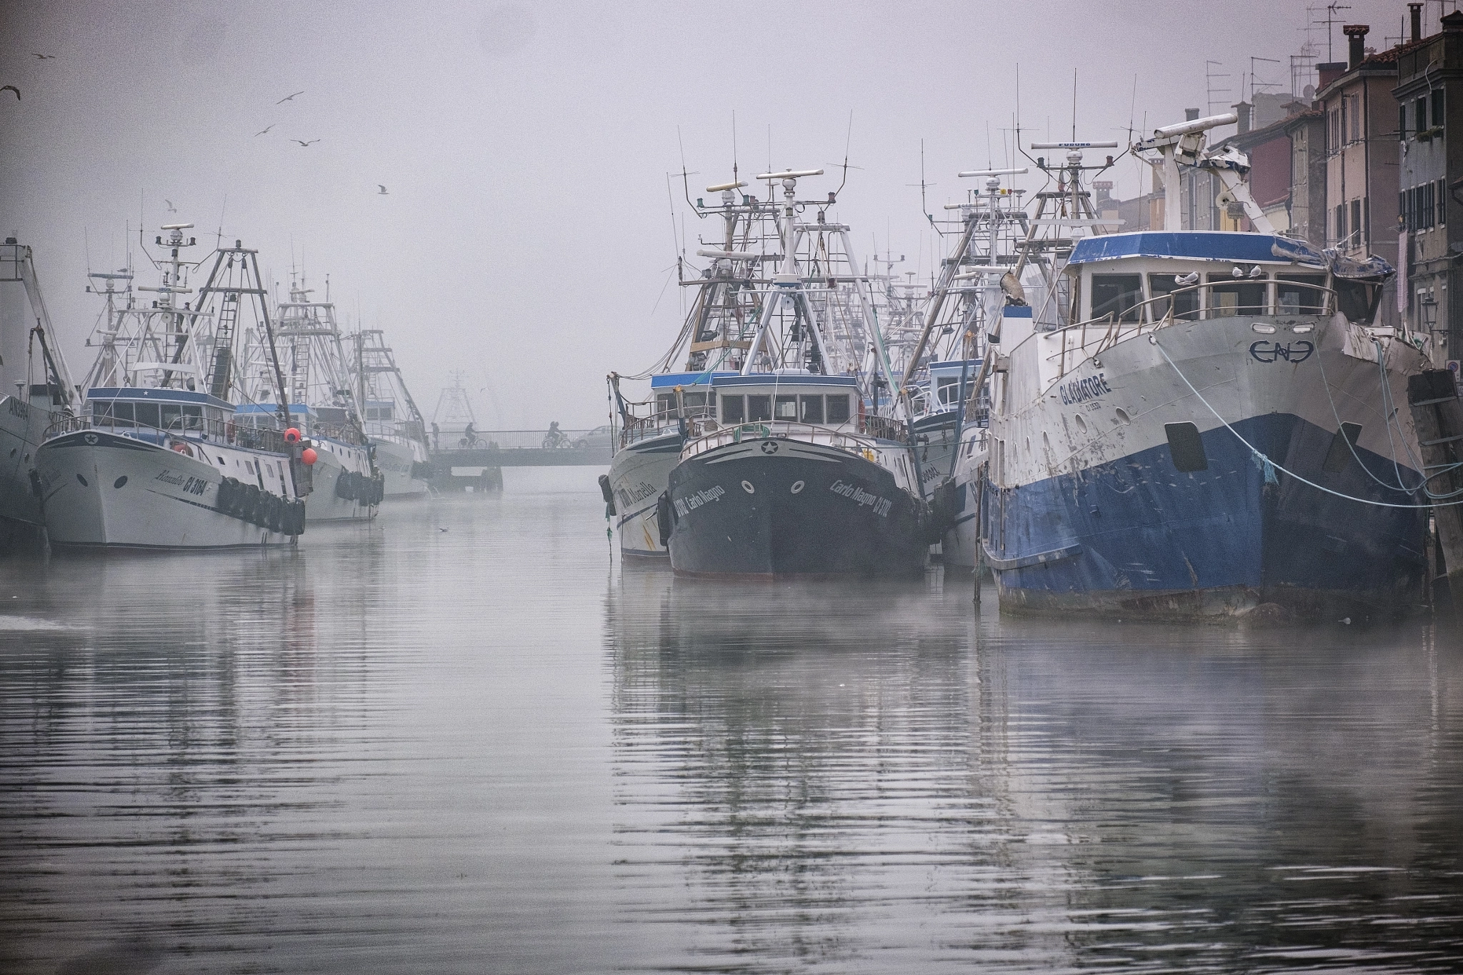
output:
MULTIPOLYGON (((130 279, 130 273, 123 269, 97 278, 110 285, 130 279)), ((15 237, 0 244, 0 281, 23 285, 29 307, 29 319, 9 314, 7 307, 0 323, 0 528, 7 539, 16 534, 35 538, 44 525, 31 478, 35 453, 47 427, 76 412, 78 392, 56 344, 35 259, 15 237), (12 386, 15 393, 7 393, 12 386)))

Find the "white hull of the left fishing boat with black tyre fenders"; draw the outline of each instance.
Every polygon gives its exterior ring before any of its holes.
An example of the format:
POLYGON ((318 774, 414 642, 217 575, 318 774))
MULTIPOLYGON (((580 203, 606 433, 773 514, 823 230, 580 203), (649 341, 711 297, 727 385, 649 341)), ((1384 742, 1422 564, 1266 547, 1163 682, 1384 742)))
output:
POLYGON ((193 453, 91 430, 48 440, 37 452, 37 469, 51 544, 189 550, 291 541, 218 510, 225 477, 293 497, 287 458, 212 444, 196 444, 193 453))

